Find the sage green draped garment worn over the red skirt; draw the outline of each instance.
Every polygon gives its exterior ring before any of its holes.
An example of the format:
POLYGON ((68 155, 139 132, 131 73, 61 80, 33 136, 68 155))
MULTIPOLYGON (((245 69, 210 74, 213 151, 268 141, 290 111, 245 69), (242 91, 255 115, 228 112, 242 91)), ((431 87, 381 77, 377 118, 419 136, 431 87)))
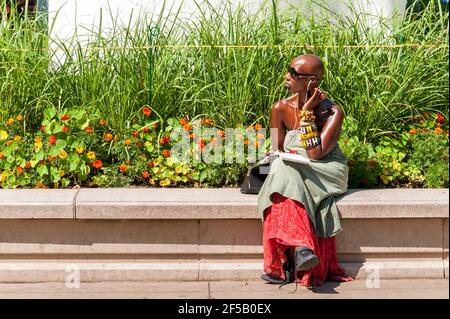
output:
MULTIPOLYGON (((296 150, 308 157, 299 133, 299 130, 286 133, 284 150, 296 150)), ((347 192, 348 158, 336 144, 324 158, 310 161, 302 164, 276 158, 258 194, 258 211, 264 220, 264 211, 272 205, 272 195, 280 193, 305 206, 318 237, 331 237, 342 231, 335 197, 347 192)))

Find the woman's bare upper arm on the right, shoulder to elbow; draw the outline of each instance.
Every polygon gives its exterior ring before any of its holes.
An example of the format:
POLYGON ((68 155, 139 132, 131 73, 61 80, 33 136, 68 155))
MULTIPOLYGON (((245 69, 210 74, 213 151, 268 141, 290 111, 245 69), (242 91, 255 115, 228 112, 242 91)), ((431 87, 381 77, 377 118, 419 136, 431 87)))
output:
POLYGON ((310 159, 319 160, 330 153, 336 146, 339 135, 341 134, 344 113, 337 105, 333 105, 333 111, 334 114, 327 119, 320 134, 321 143, 306 150, 310 159))

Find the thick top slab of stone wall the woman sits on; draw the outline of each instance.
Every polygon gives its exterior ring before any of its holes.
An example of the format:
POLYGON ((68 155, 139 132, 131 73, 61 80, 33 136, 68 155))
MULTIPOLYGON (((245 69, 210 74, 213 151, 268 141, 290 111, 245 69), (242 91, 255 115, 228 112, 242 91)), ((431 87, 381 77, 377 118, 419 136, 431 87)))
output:
MULTIPOLYGON (((349 190, 342 218, 448 218, 448 189, 349 190)), ((0 219, 258 219, 236 188, 0 190, 0 219)))

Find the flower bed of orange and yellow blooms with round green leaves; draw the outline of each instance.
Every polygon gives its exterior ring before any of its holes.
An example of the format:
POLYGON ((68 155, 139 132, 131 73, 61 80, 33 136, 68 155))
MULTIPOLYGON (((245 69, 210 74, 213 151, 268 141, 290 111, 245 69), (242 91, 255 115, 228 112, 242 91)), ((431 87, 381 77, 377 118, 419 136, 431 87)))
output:
MULTIPOLYGON (((132 117, 123 134, 81 108, 61 113, 47 108, 36 132, 26 131, 26 120, 17 115, 0 126, 3 188, 237 186, 249 159, 256 158, 252 154, 260 157, 270 148, 270 139, 258 133, 260 124, 242 127, 227 144, 223 129, 208 132, 215 128, 211 118, 164 121, 148 106, 132 117), (181 141, 171 139, 175 130, 188 138, 188 161, 171 154, 181 141), (194 160, 222 143, 220 161, 194 160), (233 151, 238 144, 245 146, 243 153, 233 151), (227 155, 231 160, 224 163, 227 155)), ((414 117, 408 132, 385 134, 377 145, 358 138, 358 125, 346 117, 339 141, 349 157, 350 188, 448 187, 448 121, 442 114, 414 117)))

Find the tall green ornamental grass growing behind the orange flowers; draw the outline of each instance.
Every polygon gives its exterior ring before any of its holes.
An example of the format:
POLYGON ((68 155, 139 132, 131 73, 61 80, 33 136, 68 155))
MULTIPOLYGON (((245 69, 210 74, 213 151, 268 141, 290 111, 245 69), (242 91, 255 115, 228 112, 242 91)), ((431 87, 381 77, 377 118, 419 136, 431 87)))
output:
POLYGON ((330 13, 335 22, 328 23, 300 12, 285 15, 275 2, 256 14, 227 3, 202 8, 193 21, 180 19, 179 8, 172 8, 171 15, 150 23, 115 25, 110 37, 94 31, 88 50, 76 39, 59 42, 66 54, 59 68, 51 67, 54 53, 46 50, 50 40, 41 22, 14 17, 0 27, 0 120, 28 114, 28 125, 36 127, 47 106, 81 105, 98 110, 121 131, 150 104, 162 118, 207 114, 222 127, 256 121, 268 126, 271 105, 288 95, 286 66, 304 53, 324 60, 321 87, 360 122, 361 139, 373 141, 425 111, 448 116, 448 9, 438 1, 420 13, 410 9, 393 27, 382 20, 380 30, 366 28, 364 16, 352 21, 330 13), (151 101, 149 26, 160 28, 155 43, 161 45, 153 51, 151 101), (370 47, 404 43, 423 47, 370 47), (262 47, 214 48, 219 45, 262 47))

